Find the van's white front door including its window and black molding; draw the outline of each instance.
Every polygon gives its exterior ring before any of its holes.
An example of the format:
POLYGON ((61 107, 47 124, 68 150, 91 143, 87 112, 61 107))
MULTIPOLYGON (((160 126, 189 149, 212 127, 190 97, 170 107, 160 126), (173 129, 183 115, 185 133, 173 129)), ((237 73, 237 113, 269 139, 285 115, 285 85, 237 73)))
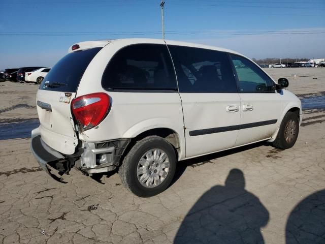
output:
POLYGON ((240 130, 236 146, 270 138, 281 121, 281 94, 272 79, 247 58, 230 55, 241 99, 240 130))

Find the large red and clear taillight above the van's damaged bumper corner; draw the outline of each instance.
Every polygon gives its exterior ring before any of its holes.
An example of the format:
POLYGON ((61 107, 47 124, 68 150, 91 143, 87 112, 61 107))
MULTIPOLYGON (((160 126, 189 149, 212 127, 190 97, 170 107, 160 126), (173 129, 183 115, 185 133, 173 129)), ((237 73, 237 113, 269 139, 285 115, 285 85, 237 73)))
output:
POLYGON ((80 129, 89 130, 98 126, 108 114, 110 97, 106 93, 92 93, 72 100, 72 112, 80 129))

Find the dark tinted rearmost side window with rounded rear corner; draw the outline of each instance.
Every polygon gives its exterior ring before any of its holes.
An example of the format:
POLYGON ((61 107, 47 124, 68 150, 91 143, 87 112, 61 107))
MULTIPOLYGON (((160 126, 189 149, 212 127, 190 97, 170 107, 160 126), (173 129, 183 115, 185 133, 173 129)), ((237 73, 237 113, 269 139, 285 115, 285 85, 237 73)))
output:
POLYGON ((166 45, 136 44, 122 48, 106 67, 102 86, 109 90, 177 90, 166 45))

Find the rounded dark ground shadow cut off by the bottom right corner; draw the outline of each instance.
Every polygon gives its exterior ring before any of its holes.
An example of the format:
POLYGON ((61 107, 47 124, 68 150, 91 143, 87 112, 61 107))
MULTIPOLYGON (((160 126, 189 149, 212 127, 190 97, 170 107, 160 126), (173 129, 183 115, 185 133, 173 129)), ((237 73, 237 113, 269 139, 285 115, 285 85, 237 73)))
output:
POLYGON ((286 244, 325 243, 325 190, 309 195, 291 211, 285 240, 286 244))

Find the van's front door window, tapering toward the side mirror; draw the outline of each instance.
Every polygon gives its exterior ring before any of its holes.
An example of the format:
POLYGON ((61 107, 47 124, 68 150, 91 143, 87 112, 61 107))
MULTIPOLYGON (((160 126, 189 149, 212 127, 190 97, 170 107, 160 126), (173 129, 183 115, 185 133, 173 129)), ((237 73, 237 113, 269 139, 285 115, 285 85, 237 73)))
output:
POLYGON ((273 81, 247 58, 230 55, 237 73, 240 93, 274 92, 273 81))

